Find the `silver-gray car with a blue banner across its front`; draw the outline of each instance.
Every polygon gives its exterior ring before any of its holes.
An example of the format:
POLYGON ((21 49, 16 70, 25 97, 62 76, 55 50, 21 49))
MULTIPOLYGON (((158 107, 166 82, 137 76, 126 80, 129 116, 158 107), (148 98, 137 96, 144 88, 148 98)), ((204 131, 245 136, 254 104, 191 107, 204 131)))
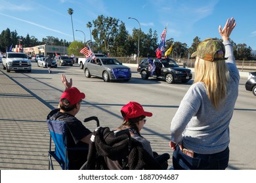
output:
POLYGON ((103 78, 104 82, 131 79, 131 69, 115 58, 91 58, 84 63, 83 71, 85 77, 97 76, 103 78))

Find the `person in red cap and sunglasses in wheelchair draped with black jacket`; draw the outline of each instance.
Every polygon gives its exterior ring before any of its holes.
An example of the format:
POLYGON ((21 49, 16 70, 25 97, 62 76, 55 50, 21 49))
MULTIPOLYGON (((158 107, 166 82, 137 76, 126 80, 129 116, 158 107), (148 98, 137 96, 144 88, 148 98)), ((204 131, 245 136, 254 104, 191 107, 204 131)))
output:
POLYGON ((158 155, 140 135, 151 112, 136 102, 121 108, 123 124, 115 131, 97 128, 89 142, 87 163, 81 169, 167 169, 169 154, 158 155))

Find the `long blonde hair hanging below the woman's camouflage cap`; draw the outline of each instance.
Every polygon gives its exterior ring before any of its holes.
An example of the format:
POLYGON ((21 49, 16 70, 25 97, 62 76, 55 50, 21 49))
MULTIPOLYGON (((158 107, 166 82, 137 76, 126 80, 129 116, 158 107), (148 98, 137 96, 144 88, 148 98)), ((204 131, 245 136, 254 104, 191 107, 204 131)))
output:
POLYGON ((226 85, 229 80, 225 61, 205 61, 196 57, 195 75, 194 83, 205 84, 211 103, 218 108, 221 101, 226 98, 226 85))

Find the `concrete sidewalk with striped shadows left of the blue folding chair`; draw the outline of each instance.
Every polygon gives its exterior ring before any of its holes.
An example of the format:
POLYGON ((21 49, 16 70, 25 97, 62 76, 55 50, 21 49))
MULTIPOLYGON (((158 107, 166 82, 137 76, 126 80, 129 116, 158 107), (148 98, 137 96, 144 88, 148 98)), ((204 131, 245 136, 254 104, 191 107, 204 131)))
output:
POLYGON ((47 106, 0 71, 1 170, 48 169, 47 112, 47 106))

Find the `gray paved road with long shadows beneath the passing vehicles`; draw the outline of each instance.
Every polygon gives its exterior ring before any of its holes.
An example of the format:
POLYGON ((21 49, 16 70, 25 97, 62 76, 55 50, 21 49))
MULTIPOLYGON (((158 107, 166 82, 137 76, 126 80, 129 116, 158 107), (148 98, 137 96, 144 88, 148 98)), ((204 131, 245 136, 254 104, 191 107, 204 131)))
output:
MULTIPOLYGON (((79 120, 89 116, 98 116, 101 126, 115 129, 121 122, 120 109, 129 101, 137 101, 146 111, 152 112, 148 118, 142 135, 152 143, 152 148, 160 154, 169 152, 169 128, 171 120, 179 107, 182 97, 192 84, 167 84, 165 81, 150 78, 142 80, 131 67, 133 73, 129 82, 103 82, 101 78, 85 78, 79 65, 52 69, 49 75, 46 68, 37 67, 32 63, 32 73, 7 73, 13 80, 20 83, 26 90, 49 108, 45 114, 58 105, 64 86, 61 74, 73 79, 73 86, 86 95, 77 114, 79 120)), ((2 70, 2 69, 1 69, 2 70)), ((3 71, 6 73, 6 71, 3 71)), ((245 90, 245 77, 240 80, 239 96, 234 108, 230 124, 230 161, 228 169, 256 169, 256 97, 245 90)), ((33 110, 33 108, 31 108, 33 110)), ((26 112, 26 111, 24 111, 26 112)), ((35 114, 36 115, 36 114, 35 114)), ((45 119, 42 119, 45 120, 45 119)), ((95 124, 86 124, 94 129, 95 124)), ((171 163, 171 159, 169 161, 171 163)))

